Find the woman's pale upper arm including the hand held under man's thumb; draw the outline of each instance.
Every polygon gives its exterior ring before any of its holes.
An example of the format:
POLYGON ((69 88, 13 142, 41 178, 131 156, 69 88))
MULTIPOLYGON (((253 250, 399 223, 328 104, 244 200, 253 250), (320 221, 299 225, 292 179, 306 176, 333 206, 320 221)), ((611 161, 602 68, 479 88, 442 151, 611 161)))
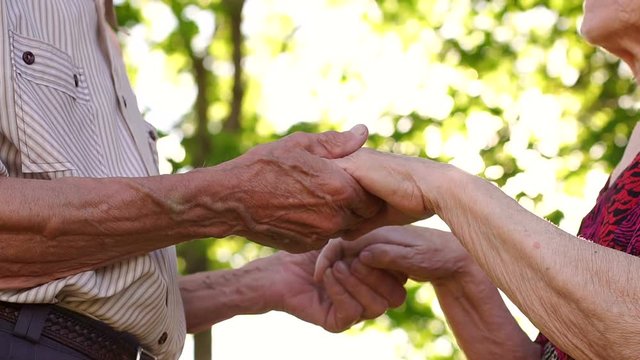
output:
POLYGON ((574 358, 636 359, 640 259, 579 239, 449 165, 360 151, 341 161, 385 218, 438 214, 494 284, 574 358))

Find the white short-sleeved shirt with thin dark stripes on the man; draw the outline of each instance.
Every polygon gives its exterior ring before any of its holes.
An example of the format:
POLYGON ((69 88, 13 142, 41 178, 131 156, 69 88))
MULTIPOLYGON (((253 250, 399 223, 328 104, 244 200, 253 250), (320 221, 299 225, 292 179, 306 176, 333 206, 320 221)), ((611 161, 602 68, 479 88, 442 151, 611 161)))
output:
MULTIPOLYGON (((0 0, 0 176, 157 175, 104 0, 0 0)), ((0 300, 56 303, 136 336, 161 359, 185 337, 173 247, 0 300), (166 335, 165 335, 166 333, 166 335)))

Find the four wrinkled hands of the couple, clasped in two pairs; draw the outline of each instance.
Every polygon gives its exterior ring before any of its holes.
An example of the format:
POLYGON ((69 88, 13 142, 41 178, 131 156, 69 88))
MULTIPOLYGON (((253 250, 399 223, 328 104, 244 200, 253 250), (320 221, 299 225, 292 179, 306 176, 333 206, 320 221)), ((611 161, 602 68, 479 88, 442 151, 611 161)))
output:
POLYGON ((414 227, 371 232, 436 213, 439 199, 424 194, 435 194, 439 181, 418 182, 414 177, 422 174, 413 168, 443 175, 449 167, 360 149, 366 137, 364 126, 294 134, 238 159, 248 175, 260 178, 241 190, 252 199, 246 203, 256 204, 247 209, 241 234, 290 252, 263 259, 277 269, 268 291, 272 309, 332 332, 401 305, 408 277, 451 279, 469 258, 449 233, 414 227))

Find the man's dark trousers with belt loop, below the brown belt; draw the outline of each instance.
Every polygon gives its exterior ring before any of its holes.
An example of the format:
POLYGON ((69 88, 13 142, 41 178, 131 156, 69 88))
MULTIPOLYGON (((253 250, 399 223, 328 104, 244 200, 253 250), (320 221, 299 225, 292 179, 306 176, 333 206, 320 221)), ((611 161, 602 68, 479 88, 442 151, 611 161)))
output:
POLYGON ((0 319, 0 360, 90 360, 42 336, 50 305, 24 305, 16 324, 0 319))

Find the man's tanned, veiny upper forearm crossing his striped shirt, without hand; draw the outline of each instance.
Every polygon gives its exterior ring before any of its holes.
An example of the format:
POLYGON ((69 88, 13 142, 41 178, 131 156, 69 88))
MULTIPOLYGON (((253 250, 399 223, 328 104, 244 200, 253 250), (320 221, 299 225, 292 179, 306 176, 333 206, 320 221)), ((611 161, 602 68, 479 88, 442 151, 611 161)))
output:
POLYGON ((0 289, 35 286, 243 226, 233 169, 148 178, 0 180, 0 289))

